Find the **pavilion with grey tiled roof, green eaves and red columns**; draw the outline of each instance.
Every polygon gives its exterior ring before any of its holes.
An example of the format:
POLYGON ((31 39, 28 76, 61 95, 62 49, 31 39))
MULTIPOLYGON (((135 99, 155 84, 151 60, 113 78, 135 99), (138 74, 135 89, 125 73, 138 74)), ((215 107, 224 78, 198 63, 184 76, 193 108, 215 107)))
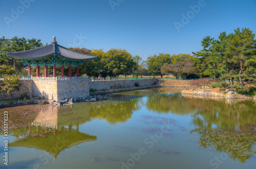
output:
POLYGON ((7 52, 8 57, 22 59, 28 64, 29 75, 31 66, 36 66, 36 77, 40 77, 40 66, 45 66, 45 77, 48 77, 48 66, 53 66, 53 77, 56 77, 56 66, 61 66, 61 77, 64 77, 64 67, 69 67, 69 77, 72 76, 72 67, 76 67, 76 76, 79 68, 86 60, 96 59, 97 55, 80 53, 57 44, 53 36, 52 44, 36 49, 7 52))

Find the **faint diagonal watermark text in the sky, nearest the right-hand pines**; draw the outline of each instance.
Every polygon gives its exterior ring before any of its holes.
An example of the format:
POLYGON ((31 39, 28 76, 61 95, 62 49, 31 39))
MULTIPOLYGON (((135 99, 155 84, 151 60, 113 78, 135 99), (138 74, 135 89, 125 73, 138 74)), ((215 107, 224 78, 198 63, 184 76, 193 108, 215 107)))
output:
POLYGON ((182 18, 181 18, 181 22, 177 22, 175 21, 174 22, 174 25, 177 29, 178 32, 180 32, 180 28, 181 27, 185 27, 186 24, 189 23, 190 19, 193 19, 196 14, 198 14, 201 10, 201 8, 205 7, 206 6, 206 3, 204 0, 200 0, 198 2, 198 5, 195 5, 195 6, 189 6, 189 8, 191 9, 190 11, 187 12, 187 14, 181 14, 182 18))

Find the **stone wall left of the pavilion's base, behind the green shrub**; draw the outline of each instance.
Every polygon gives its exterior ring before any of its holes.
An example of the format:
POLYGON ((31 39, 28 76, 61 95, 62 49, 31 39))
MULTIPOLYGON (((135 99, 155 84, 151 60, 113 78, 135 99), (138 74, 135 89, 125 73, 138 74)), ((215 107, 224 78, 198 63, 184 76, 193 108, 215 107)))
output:
MULTIPOLYGON (((0 80, 2 83, 2 80, 0 80)), ((8 95, 6 92, 0 93, 0 100, 3 99, 11 99, 12 97, 18 98, 20 95, 27 93, 29 96, 32 96, 32 80, 30 79, 22 79, 19 81, 19 84, 22 85, 19 87, 19 91, 14 90, 12 94, 8 95)))

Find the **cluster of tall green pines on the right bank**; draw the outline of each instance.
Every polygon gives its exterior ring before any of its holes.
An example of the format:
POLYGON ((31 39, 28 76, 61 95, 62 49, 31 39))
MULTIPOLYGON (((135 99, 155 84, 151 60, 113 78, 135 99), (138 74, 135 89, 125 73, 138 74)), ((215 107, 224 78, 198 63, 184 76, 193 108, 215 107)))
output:
MULTIPOLYGON (((234 30, 226 35, 222 32, 217 40, 205 37, 203 49, 193 52, 198 58, 196 67, 201 77, 218 77, 228 79, 231 88, 249 90, 247 83, 256 80, 256 41, 255 34, 248 28, 234 30), (238 80, 239 83, 234 83, 238 80)), ((226 85, 219 82, 218 86, 226 85)))

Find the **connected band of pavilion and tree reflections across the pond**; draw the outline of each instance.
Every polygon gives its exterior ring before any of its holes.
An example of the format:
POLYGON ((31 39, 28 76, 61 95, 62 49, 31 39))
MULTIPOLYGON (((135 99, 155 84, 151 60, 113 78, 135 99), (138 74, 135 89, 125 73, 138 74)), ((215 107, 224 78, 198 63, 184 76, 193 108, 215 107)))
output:
MULTIPOLYGON (((12 124, 10 134, 18 139, 9 146, 44 150, 56 159, 63 149, 97 140, 93 133, 80 132, 79 125, 98 119, 111 125, 125 123, 135 110, 145 107, 159 115, 178 115, 180 121, 184 115, 190 116, 192 132, 200 134, 198 143, 202 148, 226 152, 241 162, 251 158, 256 144, 255 102, 182 97, 180 91, 158 88, 112 94, 109 100, 60 108, 42 105, 34 112, 36 116, 24 118, 22 123, 17 123, 13 114, 9 118, 12 124)), ((34 110, 34 107, 23 109, 20 106, 19 111, 34 110)), ((8 111, 11 109, 16 108, 8 111)))

